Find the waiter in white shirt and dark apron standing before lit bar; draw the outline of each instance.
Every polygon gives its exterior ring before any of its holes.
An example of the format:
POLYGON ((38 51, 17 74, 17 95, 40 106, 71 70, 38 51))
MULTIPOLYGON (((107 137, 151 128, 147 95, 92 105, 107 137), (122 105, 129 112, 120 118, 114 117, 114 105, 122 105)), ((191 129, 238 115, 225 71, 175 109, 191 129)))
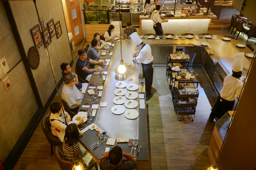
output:
POLYGON ((151 15, 151 20, 153 21, 153 28, 156 32, 156 35, 162 35, 164 33, 163 28, 162 28, 162 22, 168 22, 168 20, 161 20, 159 16, 159 11, 161 9, 160 5, 156 6, 156 10, 151 15))

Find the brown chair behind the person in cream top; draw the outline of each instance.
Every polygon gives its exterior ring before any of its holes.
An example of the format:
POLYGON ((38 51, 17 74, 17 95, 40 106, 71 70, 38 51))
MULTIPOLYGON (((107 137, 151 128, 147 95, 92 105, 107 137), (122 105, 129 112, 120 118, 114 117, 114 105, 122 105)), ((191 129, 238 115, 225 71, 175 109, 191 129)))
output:
POLYGON ((48 140, 48 142, 51 144, 51 155, 52 155, 52 150, 53 150, 53 145, 54 146, 58 146, 58 145, 62 145, 62 142, 59 140, 58 137, 53 136, 50 132, 50 113, 46 113, 41 121, 41 126, 43 129, 43 132, 45 134, 46 139, 48 140))

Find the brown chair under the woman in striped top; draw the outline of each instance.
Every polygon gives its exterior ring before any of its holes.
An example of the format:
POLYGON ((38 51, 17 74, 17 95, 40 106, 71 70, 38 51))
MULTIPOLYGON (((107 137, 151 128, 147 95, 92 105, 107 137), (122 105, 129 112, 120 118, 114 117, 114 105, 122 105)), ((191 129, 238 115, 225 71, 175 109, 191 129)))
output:
MULTIPOLYGON (((61 170, 72 170, 74 165, 70 161, 63 159, 63 153, 60 151, 60 148, 58 146, 56 147, 56 150, 55 150, 55 156, 57 158, 57 162, 61 170)), ((94 159, 92 159, 89 162, 89 164, 84 168, 92 169, 93 167, 95 167, 95 169, 98 170, 98 164, 94 159)))

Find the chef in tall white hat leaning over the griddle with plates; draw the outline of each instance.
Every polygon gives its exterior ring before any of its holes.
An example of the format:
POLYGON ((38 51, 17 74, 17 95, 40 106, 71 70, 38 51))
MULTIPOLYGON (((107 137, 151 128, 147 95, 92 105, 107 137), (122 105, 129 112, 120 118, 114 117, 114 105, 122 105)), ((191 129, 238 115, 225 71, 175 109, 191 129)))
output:
POLYGON ((146 86, 146 100, 149 100, 152 96, 151 94, 151 87, 153 82, 153 56, 151 55, 151 47, 148 44, 144 44, 141 40, 140 36, 134 32, 130 35, 132 41, 138 48, 141 50, 135 51, 139 53, 138 57, 133 58, 132 60, 135 62, 141 62, 142 70, 143 70, 143 77, 145 78, 145 86, 146 86))

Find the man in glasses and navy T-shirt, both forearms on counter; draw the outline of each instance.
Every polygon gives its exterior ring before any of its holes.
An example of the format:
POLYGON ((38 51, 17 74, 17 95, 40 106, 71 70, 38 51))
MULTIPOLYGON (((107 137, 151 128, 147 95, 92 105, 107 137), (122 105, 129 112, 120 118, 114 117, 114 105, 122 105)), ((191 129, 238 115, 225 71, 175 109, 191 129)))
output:
POLYGON ((90 81, 91 75, 95 71, 101 71, 101 67, 97 69, 90 69, 89 63, 92 64, 103 64, 103 61, 95 61, 90 59, 89 57, 87 58, 86 51, 83 49, 78 50, 78 55, 79 58, 77 59, 76 67, 78 74, 83 80, 90 81))

